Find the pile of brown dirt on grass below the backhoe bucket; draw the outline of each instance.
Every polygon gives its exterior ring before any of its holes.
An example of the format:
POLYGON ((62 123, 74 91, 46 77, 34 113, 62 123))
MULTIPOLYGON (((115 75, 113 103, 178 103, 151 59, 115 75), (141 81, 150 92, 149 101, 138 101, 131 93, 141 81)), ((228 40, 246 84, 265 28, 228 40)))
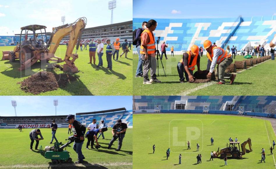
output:
POLYGON ((42 71, 31 75, 29 78, 18 82, 20 88, 32 94, 40 94, 46 91, 57 90, 59 87, 65 87, 70 81, 77 78, 69 74, 54 74, 52 72, 42 71))

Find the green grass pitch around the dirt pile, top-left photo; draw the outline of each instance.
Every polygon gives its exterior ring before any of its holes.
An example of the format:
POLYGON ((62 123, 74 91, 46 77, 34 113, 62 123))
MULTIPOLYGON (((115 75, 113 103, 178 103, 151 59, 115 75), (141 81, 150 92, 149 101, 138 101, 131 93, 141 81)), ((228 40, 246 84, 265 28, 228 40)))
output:
MULTIPOLYGON (((2 51, 13 50, 14 46, 1 46, 2 51)), ((107 67, 106 54, 104 47, 104 55, 102 57, 103 66, 107 67)), ((131 51, 131 50, 130 50, 131 51)), ((66 45, 60 45, 56 50, 55 55, 64 59, 66 52, 66 45)), ((75 49, 73 51, 75 53, 75 49)), ((122 53, 120 49, 119 54, 122 53)), ((96 65, 87 64, 89 62, 89 50, 78 50, 79 58, 76 59, 75 65, 79 72, 75 75, 79 80, 70 83, 66 87, 59 88, 58 90, 40 93, 40 95, 132 95, 132 52, 128 52, 128 58, 119 57, 118 61, 112 59, 112 71, 105 68, 97 69, 98 56, 96 54, 96 65)), ((116 57, 116 55, 115 55, 116 57)), ((53 63, 50 61, 50 63, 53 63)), ((64 62, 60 63, 61 65, 64 62)), ((24 71, 20 73, 18 68, 20 62, 17 59, 15 62, 8 60, 0 61, 0 95, 33 95, 26 93, 20 89, 20 84, 29 75, 25 76, 24 71)), ((47 67, 42 68, 46 70, 47 67)), ((32 74, 42 71, 40 62, 38 61, 31 68, 32 74)), ((49 69, 48 69, 49 71, 49 69)), ((63 73, 59 69, 54 70, 57 74, 63 73)))

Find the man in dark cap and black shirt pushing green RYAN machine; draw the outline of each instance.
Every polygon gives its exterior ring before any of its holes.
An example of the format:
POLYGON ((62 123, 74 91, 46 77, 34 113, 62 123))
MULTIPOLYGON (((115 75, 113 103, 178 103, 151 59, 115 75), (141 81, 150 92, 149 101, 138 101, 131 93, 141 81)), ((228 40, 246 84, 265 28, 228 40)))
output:
POLYGON ((78 161, 76 161, 75 163, 82 163, 85 159, 84 155, 82 154, 82 145, 84 142, 84 133, 86 131, 86 128, 80 122, 75 120, 74 115, 68 115, 65 121, 73 125, 73 134, 75 137, 73 149, 78 154, 78 161))

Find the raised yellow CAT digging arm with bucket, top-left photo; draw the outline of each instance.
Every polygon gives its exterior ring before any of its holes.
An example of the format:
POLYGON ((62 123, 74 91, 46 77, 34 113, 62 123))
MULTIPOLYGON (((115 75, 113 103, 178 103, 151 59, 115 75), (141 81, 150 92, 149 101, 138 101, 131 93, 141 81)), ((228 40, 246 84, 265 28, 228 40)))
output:
POLYGON ((69 35, 70 39, 69 39, 68 47, 63 60, 66 63, 66 64, 63 64, 63 71, 76 73, 78 69, 74 64, 74 61, 78 58, 77 50, 79 48, 79 44, 82 37, 82 31, 84 30, 85 25, 86 25, 86 18, 82 17, 77 19, 72 24, 65 24, 65 25, 53 28, 52 35, 47 44, 47 47, 49 47, 49 50, 45 52, 45 57, 48 60, 61 62, 61 58, 56 57, 54 54, 57 48, 59 47, 59 43, 61 39, 64 36, 69 35), (76 44, 77 44, 76 52, 75 54, 72 54, 76 44), (55 59, 52 59, 52 58, 55 58, 55 59))

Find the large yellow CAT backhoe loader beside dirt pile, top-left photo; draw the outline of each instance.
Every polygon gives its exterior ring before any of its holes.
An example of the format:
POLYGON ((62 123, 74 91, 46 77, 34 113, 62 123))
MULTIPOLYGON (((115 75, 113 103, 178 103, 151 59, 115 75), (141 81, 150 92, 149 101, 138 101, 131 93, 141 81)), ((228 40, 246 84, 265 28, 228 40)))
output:
POLYGON ((86 18, 81 17, 71 24, 61 25, 52 29, 52 34, 47 39, 46 28, 42 25, 29 25, 21 28, 20 42, 15 46, 13 51, 3 51, 3 60, 10 60, 11 62, 15 59, 20 60, 19 71, 29 68, 35 64, 38 60, 43 61, 56 61, 62 62, 61 58, 55 56, 56 49, 59 47, 59 43, 64 36, 70 36, 68 47, 66 50, 63 61, 63 71, 69 73, 78 72, 78 68, 75 66, 74 61, 78 58, 77 51, 81 42, 82 31, 86 26, 86 18), (42 32, 44 30, 44 32, 42 32), (32 34, 28 34, 32 31, 32 34), (40 31, 40 33, 36 33, 40 31), (28 35, 33 38, 28 39, 28 35), (38 40, 38 35, 41 35, 41 39, 38 40), (45 37, 45 39, 43 39, 45 37), (21 41, 22 39, 22 41, 21 41), (75 45, 76 52, 72 54, 75 45), (8 54, 8 56, 7 56, 8 54), (72 59, 70 59, 72 58, 72 59))

